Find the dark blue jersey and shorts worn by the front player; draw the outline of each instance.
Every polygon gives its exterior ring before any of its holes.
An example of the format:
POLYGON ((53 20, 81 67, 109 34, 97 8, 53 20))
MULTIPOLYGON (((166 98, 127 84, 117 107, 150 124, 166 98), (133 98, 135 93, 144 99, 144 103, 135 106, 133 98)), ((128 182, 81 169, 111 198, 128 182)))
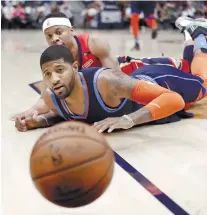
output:
MULTIPOLYGON (((133 102, 129 99, 123 99, 120 105, 116 108, 110 108, 104 104, 99 91, 97 89, 97 79, 101 72, 106 68, 88 68, 79 72, 79 76, 83 85, 85 94, 85 109, 82 115, 73 114, 64 99, 59 99, 51 91, 50 95, 58 113, 65 120, 79 120, 89 124, 98 122, 108 117, 121 117, 125 114, 130 114, 137 111, 143 105, 133 102)), ((142 67, 131 75, 137 80, 149 81, 153 84, 158 84, 162 87, 171 89, 179 93, 186 103, 193 102, 202 91, 205 94, 206 89, 202 86, 202 79, 188 73, 169 67, 150 65, 142 67)), ((153 123, 166 123, 180 120, 182 117, 191 117, 184 111, 175 113, 169 117, 154 121, 153 123)))

